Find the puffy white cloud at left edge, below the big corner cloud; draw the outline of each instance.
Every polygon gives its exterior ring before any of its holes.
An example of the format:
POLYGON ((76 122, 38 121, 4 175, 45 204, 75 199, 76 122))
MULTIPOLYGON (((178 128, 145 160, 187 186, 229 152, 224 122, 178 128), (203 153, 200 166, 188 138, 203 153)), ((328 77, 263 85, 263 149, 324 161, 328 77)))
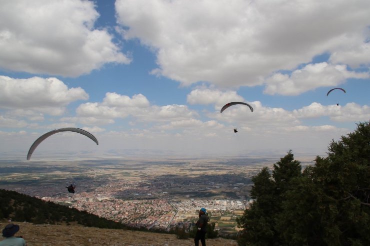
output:
POLYGON ((60 115, 65 106, 77 100, 87 100, 80 87, 68 88, 57 78, 32 77, 15 79, 0 76, 0 107, 60 115))

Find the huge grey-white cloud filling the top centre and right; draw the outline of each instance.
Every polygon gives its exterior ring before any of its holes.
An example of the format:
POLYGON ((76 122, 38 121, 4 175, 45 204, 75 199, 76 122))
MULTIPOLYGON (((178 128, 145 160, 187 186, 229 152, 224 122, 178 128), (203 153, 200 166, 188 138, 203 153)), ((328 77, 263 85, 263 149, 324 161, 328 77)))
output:
MULTIPOLYGON (((335 63, 370 61, 367 0, 117 0, 115 7, 123 36, 156 52, 158 68, 152 73, 183 85, 260 85, 272 73, 293 70, 325 52, 335 63)), ((304 89, 311 88, 299 85, 291 93, 304 89)))

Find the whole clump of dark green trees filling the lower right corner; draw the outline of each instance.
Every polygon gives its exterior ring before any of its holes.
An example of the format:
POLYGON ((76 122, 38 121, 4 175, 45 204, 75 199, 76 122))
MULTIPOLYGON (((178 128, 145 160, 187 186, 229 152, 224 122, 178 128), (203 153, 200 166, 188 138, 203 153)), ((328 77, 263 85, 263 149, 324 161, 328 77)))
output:
POLYGON ((238 219, 239 245, 370 245, 370 125, 332 141, 301 173, 291 151, 253 177, 255 203, 238 219))

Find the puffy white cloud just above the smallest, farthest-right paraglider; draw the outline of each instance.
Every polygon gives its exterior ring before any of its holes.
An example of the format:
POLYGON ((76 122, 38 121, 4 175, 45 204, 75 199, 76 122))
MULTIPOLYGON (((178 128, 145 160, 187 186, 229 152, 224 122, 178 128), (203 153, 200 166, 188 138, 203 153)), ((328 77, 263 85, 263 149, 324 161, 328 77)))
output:
POLYGON ((275 73, 266 79, 266 94, 299 95, 320 86, 337 86, 347 78, 369 78, 369 73, 348 71, 346 65, 308 64, 291 75, 275 73))

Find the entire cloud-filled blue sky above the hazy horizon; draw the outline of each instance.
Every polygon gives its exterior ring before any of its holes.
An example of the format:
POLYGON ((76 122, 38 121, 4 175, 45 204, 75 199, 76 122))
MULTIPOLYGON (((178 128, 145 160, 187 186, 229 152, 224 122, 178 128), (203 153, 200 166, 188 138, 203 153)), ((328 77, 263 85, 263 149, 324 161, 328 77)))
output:
POLYGON ((99 145, 55 134, 32 159, 315 156, 370 119, 367 0, 0 3, 3 156, 62 127, 99 145))

